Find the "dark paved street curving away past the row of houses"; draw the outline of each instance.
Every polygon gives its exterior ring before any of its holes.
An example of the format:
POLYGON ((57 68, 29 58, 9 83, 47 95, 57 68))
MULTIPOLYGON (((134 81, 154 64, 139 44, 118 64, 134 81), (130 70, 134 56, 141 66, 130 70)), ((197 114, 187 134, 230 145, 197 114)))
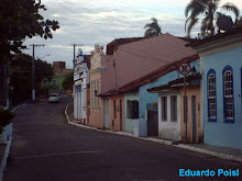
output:
MULTIPOLYGON (((191 180, 179 169, 240 169, 241 163, 67 124, 62 103, 16 111, 4 181, 191 180)), ((241 180, 195 178, 195 180, 241 180)))

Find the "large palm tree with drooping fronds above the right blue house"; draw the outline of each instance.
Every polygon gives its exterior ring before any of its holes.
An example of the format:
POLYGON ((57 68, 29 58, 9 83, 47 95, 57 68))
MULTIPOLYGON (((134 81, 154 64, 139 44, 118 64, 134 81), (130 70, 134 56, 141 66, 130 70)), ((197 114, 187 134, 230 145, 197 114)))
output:
POLYGON ((215 20, 217 20, 222 13, 218 12, 218 9, 231 11, 235 14, 235 20, 239 18, 239 9, 233 3, 226 3, 219 7, 221 0, 191 0, 186 9, 185 16, 187 18, 185 23, 185 32, 190 35, 191 29, 201 20, 201 35, 215 35, 215 20), (189 16, 188 16, 189 15, 189 16))

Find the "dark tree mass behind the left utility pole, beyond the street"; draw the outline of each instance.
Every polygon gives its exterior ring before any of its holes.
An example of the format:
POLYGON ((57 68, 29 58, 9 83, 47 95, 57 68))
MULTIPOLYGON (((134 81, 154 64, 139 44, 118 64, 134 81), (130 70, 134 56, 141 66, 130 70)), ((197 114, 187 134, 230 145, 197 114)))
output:
MULTIPOLYGON (((32 95, 32 57, 30 55, 21 54, 11 61, 10 80, 11 98, 13 103, 18 103, 32 95), (23 86, 24 84, 24 86, 23 86)), ((35 91, 36 95, 41 91, 42 79, 47 78, 50 81, 54 75, 51 64, 41 59, 35 60, 35 91)))

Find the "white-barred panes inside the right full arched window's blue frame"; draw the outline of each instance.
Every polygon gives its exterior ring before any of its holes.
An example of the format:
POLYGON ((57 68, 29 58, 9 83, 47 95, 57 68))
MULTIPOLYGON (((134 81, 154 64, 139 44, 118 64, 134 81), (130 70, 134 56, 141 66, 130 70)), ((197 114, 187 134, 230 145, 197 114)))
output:
POLYGON ((233 73, 228 69, 223 72, 224 117, 233 120, 233 73))

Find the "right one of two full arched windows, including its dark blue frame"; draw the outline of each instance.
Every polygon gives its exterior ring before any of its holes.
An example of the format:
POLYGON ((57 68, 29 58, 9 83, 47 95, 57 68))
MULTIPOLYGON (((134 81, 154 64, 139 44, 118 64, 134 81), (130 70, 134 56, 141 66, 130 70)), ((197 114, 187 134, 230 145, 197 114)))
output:
POLYGON ((222 70, 223 117, 226 123, 234 123, 233 69, 226 66, 222 70))

